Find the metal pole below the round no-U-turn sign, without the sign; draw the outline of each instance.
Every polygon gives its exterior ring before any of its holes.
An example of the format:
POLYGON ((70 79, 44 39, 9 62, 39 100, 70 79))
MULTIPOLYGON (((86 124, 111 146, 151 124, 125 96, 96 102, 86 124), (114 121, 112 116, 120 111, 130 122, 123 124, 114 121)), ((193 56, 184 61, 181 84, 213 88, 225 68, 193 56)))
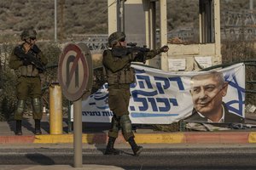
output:
POLYGON ((82 99, 73 102, 74 167, 82 167, 82 99))

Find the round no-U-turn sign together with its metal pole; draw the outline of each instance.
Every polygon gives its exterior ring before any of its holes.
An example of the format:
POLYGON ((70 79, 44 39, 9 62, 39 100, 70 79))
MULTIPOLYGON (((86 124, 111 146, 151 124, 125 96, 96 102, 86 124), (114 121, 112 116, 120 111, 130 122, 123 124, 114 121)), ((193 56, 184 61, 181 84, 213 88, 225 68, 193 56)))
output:
POLYGON ((93 75, 90 49, 82 43, 79 43, 79 46, 73 43, 68 44, 61 53, 58 67, 58 80, 60 82, 61 88, 63 89, 63 94, 68 100, 74 101, 73 167, 82 167, 83 164, 82 97, 83 94, 84 98, 87 98, 90 95, 93 75), (79 46, 83 49, 83 51, 81 48, 79 48, 79 46))

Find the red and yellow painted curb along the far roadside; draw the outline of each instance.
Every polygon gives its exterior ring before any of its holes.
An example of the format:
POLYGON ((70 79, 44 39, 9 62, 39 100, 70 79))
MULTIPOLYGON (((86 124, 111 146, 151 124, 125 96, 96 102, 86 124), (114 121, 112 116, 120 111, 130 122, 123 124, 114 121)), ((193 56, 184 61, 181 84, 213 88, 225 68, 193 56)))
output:
MULTIPOLYGON (((256 132, 224 133, 135 133, 137 144, 251 144, 256 143, 256 132)), ((83 133, 84 144, 107 144, 107 133, 83 133)), ((73 134, 43 134, 31 136, 0 136, 0 144, 67 144, 73 134)), ((119 133, 117 144, 126 141, 119 133)))

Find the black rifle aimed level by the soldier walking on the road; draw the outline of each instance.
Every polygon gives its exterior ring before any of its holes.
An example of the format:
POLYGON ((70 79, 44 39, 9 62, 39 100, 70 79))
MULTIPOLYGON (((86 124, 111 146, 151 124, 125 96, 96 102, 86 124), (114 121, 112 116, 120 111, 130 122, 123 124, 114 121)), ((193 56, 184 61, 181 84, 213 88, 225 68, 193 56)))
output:
POLYGON ((135 57, 135 60, 139 62, 145 62, 144 54, 150 51, 149 48, 146 48, 147 46, 137 47, 136 42, 129 42, 127 43, 127 46, 128 47, 126 48, 119 48, 119 47, 112 48, 113 55, 117 57, 122 57, 128 54, 137 54, 135 57))

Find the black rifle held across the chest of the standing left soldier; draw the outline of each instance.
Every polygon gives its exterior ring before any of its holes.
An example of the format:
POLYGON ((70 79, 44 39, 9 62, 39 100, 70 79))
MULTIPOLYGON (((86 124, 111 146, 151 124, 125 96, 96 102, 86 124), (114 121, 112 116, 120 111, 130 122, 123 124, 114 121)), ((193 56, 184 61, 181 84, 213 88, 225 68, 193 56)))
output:
POLYGON ((22 60, 27 60, 30 62, 38 69, 39 72, 45 71, 45 66, 42 64, 42 62, 32 53, 25 54, 20 46, 15 48, 15 55, 22 60))

